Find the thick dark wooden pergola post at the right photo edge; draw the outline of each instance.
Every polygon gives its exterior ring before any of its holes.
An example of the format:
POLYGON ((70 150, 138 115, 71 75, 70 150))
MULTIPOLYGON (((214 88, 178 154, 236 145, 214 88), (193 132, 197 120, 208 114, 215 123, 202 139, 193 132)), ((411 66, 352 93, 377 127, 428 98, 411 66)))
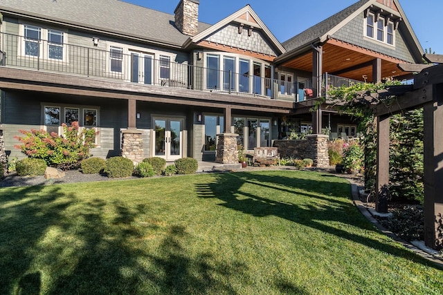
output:
POLYGON ((443 247, 443 84, 424 105, 424 242, 443 247))

